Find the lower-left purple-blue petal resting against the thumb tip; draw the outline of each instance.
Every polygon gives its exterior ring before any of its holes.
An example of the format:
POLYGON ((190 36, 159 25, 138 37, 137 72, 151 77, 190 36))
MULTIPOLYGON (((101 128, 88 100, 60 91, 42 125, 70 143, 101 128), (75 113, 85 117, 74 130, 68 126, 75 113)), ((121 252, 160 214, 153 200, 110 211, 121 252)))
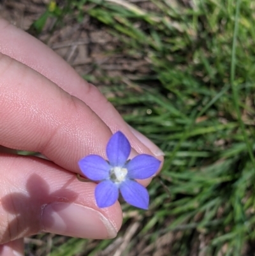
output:
POLYGON ((98 207, 112 206, 119 197, 119 188, 112 181, 102 181, 96 186, 95 197, 98 207))

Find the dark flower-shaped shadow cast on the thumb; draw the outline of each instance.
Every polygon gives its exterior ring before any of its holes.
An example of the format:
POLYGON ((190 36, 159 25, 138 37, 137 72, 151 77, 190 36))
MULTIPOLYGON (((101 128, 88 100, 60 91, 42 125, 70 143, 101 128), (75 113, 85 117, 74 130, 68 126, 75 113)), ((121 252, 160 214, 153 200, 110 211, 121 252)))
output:
MULTIPOLYGON (((68 184, 73 179, 75 179, 75 176, 69 179, 68 184)), ((45 205, 52 202, 71 203, 77 199, 77 193, 64 188, 68 184, 65 184, 54 193, 50 193, 48 183, 38 174, 32 174, 27 180, 26 191, 24 193, 10 193, 4 196, 1 199, 1 204, 13 216, 13 219, 8 223, 3 237, 10 237, 10 240, 13 240, 18 237, 30 236, 31 234, 40 232, 42 229, 41 212, 45 205)), ((62 209, 68 205, 66 204, 65 206, 62 204, 62 209)), ((50 216, 47 218, 49 218, 49 223, 52 222, 53 224, 54 219, 50 218, 50 216)))

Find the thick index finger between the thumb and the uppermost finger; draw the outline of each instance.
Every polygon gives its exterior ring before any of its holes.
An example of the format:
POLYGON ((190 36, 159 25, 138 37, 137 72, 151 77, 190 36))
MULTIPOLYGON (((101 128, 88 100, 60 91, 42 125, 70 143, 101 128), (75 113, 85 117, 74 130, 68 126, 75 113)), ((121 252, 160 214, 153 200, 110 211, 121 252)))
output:
POLYGON ((105 156, 112 133, 84 102, 3 54, 0 77, 3 146, 39 151, 73 172, 85 155, 105 156))

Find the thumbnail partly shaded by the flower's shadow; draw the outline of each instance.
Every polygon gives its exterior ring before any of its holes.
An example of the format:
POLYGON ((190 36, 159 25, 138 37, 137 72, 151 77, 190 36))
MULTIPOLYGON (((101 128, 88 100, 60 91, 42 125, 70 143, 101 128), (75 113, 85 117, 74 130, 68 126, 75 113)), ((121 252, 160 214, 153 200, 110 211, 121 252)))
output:
POLYGON ((117 230, 98 211, 64 202, 48 204, 42 213, 43 231, 91 239, 107 239, 117 235, 117 230))

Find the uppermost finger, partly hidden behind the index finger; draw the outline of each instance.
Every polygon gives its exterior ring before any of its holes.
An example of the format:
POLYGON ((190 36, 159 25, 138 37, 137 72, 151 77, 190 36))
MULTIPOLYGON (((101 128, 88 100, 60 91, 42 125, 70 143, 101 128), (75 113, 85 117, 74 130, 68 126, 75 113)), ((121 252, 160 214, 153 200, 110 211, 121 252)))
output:
POLYGON ((154 154, 163 160, 163 152, 149 139, 124 122, 96 87, 87 83, 63 59, 29 34, 0 20, 0 52, 17 59, 52 80, 64 91, 84 101, 112 132, 121 130, 138 153, 154 154))

